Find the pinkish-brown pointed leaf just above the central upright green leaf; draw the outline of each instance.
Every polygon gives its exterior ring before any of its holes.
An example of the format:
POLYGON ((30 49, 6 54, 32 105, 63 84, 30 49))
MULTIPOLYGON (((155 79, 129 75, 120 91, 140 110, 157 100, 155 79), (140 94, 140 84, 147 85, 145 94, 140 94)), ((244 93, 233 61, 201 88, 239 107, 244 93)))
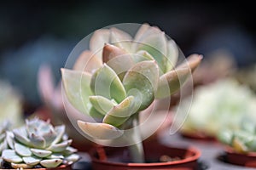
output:
POLYGON ((125 72, 134 65, 131 54, 128 54, 125 50, 111 44, 106 44, 104 46, 102 56, 103 62, 116 72, 120 80, 125 76, 125 72))

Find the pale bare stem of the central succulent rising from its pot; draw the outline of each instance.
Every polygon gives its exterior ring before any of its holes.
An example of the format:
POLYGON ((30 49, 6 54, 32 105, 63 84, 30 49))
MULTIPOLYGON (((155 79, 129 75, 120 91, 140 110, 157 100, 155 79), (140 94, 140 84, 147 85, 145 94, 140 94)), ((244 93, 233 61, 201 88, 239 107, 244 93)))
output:
POLYGON ((131 154, 131 161, 143 163, 145 161, 143 142, 138 125, 139 117, 138 113, 136 113, 131 117, 131 140, 134 142, 134 144, 129 146, 129 151, 131 154))

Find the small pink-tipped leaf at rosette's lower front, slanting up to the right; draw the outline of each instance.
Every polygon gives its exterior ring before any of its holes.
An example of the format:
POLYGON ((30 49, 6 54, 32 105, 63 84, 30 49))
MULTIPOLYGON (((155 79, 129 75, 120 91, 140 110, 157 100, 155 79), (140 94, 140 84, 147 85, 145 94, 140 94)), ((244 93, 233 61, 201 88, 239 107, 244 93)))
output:
POLYGON ((140 105, 137 105, 133 96, 124 99, 119 105, 115 105, 104 117, 103 123, 115 127, 123 124, 132 114, 136 113, 140 105))

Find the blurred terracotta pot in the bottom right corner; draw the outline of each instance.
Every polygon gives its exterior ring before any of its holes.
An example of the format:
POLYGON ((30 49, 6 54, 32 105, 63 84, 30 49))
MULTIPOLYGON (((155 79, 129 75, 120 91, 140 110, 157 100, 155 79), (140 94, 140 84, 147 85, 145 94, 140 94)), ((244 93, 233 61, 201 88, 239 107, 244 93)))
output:
POLYGON ((248 152, 245 154, 238 153, 235 150, 227 147, 225 149, 226 161, 234 165, 244 167, 256 167, 256 152, 248 152))

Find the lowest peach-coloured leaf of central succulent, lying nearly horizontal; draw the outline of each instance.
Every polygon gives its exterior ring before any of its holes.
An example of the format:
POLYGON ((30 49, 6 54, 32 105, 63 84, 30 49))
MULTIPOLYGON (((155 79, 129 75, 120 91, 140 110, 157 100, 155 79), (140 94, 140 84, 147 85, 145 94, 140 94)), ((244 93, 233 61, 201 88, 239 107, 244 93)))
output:
POLYGON ((94 139, 117 139, 124 132, 106 123, 78 121, 80 129, 94 139))

